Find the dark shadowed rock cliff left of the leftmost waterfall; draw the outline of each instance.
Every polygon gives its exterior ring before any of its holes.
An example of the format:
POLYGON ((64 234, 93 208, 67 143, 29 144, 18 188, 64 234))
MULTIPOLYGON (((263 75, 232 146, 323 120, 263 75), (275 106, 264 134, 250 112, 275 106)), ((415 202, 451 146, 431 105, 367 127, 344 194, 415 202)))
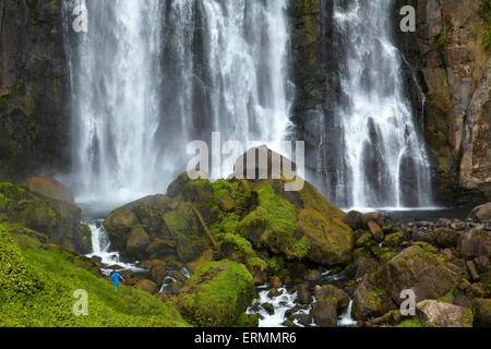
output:
POLYGON ((0 178, 67 165, 61 5, 60 0, 0 1, 0 178))

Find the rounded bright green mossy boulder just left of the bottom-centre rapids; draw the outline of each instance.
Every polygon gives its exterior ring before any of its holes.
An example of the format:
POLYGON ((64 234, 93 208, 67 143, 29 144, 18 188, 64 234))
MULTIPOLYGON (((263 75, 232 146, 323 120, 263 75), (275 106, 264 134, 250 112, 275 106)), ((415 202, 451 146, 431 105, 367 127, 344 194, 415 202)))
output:
POLYGON ((252 275, 242 264, 227 260, 200 267, 179 296, 182 315, 203 327, 236 325, 255 297, 252 275))

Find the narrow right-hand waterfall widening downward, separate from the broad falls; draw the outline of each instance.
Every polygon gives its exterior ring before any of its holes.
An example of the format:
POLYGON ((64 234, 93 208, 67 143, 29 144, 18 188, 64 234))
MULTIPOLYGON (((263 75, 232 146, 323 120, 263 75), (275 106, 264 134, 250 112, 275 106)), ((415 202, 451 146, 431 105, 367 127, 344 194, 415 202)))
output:
POLYGON ((348 205, 360 209, 432 202, 424 142, 392 43, 392 7, 390 0, 335 0, 335 24, 345 38, 342 88, 349 100, 337 110, 347 168, 339 184, 348 189, 348 205))

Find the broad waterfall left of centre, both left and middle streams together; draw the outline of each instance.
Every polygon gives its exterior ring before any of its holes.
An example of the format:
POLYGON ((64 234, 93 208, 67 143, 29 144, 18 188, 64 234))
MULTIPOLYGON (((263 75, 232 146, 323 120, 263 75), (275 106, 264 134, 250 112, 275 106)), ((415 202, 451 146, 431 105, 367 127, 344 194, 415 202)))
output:
POLYGON ((187 145, 278 141, 289 122, 287 0, 69 0, 72 188, 80 202, 165 192, 187 145), (70 29, 86 5, 88 32, 70 29))

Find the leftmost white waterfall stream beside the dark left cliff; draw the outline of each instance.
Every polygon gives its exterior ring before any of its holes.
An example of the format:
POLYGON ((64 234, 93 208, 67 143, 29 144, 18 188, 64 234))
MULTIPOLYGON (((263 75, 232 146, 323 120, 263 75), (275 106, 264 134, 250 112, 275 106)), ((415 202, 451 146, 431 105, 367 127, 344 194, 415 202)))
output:
POLYGON ((81 201, 145 194, 160 169, 160 2, 72 1, 87 9, 72 67, 74 179, 81 201))

